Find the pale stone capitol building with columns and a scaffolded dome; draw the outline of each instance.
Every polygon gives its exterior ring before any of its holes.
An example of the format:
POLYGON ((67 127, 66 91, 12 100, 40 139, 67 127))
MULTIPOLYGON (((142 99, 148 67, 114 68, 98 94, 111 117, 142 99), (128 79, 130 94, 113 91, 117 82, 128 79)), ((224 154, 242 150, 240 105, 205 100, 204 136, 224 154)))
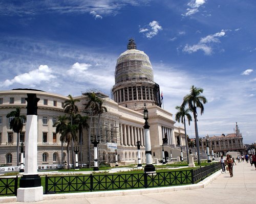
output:
MULTIPOLYGON (((67 161, 67 144, 63 144, 63 155, 61 156, 60 135, 56 133, 54 124, 57 122, 58 116, 66 114, 63 106, 69 97, 33 89, 0 91, 0 165, 2 167, 16 166, 18 156, 16 153, 17 134, 10 129, 11 118, 6 116, 16 107, 20 107, 21 114, 26 115, 27 101, 25 98, 27 93, 35 93, 37 98, 40 98, 37 110, 38 168, 59 167, 67 161)), ((72 95, 72 93, 70 94, 72 95)), ((163 159, 163 148, 166 160, 170 157, 170 152, 176 160, 180 156, 181 147, 185 146, 184 129, 175 126, 176 121, 173 119, 173 114, 161 108, 160 88, 154 81, 150 59, 143 51, 137 49, 133 39, 129 40, 127 50, 120 54, 117 59, 115 84, 112 87, 111 96, 102 93, 100 90, 87 89, 81 95, 73 98, 79 99, 79 102, 76 103, 78 113, 88 115, 89 121, 92 119, 90 131, 83 130, 82 139, 78 139, 74 144, 75 147, 79 147, 79 164, 88 165, 89 161, 93 162, 94 149, 90 138, 97 133, 100 136, 99 164, 115 162, 115 152, 117 152, 119 164, 136 163, 138 158, 137 141, 140 141, 141 159, 142 163, 145 163, 143 129, 145 122, 143 110, 145 107, 149 113, 148 123, 150 124, 154 162, 163 159), (103 100, 103 106, 108 110, 100 117, 99 133, 97 132, 98 116, 91 116, 92 118, 90 118, 90 114, 84 111, 88 102, 87 93, 91 92, 94 92, 97 97, 103 100), (163 145, 164 137, 167 138, 167 143, 163 145)), ((26 121, 24 121, 24 127, 19 137, 19 145, 23 143, 26 151, 25 132, 26 121)), ((186 157, 185 148, 182 149, 183 155, 186 157)), ((71 148, 70 150, 73 151, 71 148)), ((20 157, 20 154, 18 157, 20 157)), ((72 160, 70 159, 70 161, 72 160)), ((93 164, 91 163, 91 165, 93 164)))

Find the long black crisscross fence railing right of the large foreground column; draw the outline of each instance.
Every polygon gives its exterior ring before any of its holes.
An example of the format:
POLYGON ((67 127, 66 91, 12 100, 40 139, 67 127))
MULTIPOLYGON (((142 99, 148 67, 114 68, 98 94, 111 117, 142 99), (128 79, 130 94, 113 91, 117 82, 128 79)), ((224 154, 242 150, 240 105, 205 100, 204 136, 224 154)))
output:
POLYGON ((220 163, 196 170, 133 174, 46 176, 45 194, 195 184, 221 169, 220 163))

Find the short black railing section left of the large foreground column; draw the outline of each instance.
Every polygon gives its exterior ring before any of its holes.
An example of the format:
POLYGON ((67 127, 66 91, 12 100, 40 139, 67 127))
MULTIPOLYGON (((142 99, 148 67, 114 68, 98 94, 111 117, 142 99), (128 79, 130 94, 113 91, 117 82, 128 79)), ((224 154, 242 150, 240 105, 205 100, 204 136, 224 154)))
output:
POLYGON ((18 176, 0 178, 0 196, 17 195, 18 176))

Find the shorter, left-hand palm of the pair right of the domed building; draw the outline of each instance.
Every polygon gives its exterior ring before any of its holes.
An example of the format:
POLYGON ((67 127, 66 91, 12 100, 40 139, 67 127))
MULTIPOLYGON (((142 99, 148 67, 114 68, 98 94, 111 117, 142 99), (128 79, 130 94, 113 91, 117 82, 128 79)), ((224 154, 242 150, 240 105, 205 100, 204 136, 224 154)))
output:
MULTIPOLYGON (((191 110, 190 109, 185 109, 184 106, 176 106, 175 109, 178 110, 178 112, 176 113, 176 116, 175 116, 175 120, 184 124, 185 136, 187 137, 185 117, 187 117, 188 125, 190 125, 190 121, 192 120, 192 117, 189 114, 189 112, 191 110)), ((187 138, 185 139, 185 142, 186 142, 186 151, 187 151, 187 163, 189 163, 187 138)))

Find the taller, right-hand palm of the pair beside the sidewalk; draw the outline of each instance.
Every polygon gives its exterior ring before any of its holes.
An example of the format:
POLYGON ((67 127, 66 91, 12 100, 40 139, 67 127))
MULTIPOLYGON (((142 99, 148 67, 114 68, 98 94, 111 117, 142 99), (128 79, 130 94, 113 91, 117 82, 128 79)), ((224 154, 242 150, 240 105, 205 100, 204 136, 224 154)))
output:
POLYGON ((190 88, 190 93, 185 95, 183 98, 182 106, 188 105, 188 108, 193 111, 194 121, 195 121, 195 133, 196 133, 196 145, 197 145, 197 154, 198 154, 198 165, 200 162, 200 149, 199 149, 199 136, 198 136, 198 127, 197 127, 197 108, 201 109, 201 115, 204 113, 204 105, 207 103, 205 96, 201 95, 203 93, 202 88, 197 88, 194 85, 190 88))

